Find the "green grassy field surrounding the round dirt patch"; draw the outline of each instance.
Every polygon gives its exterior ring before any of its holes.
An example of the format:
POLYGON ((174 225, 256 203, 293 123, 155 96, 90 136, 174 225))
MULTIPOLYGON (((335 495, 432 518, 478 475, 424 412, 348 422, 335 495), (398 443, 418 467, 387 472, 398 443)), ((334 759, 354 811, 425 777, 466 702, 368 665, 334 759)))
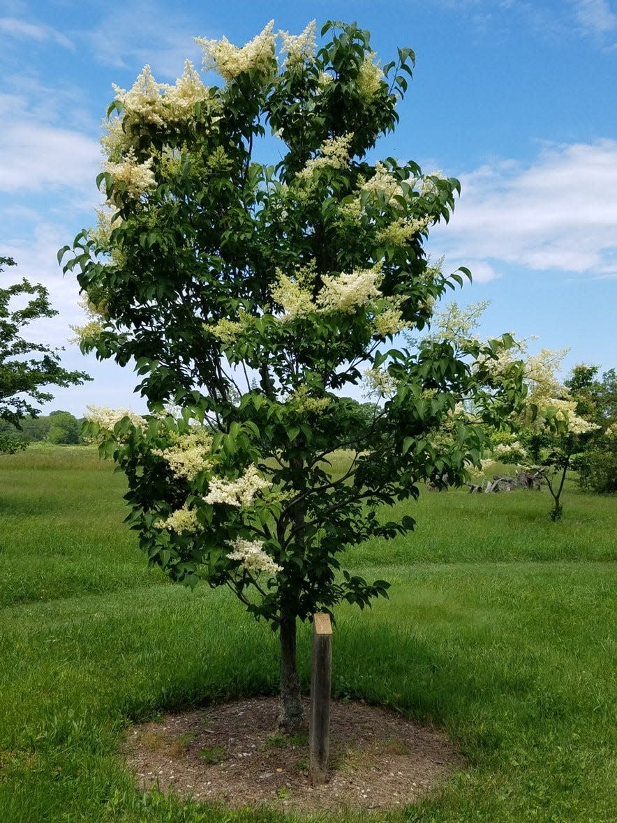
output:
MULTIPOLYGON (((129 723, 271 694, 278 671, 276 637, 231 596, 147 571, 123 490, 91 449, 0 458, 0 821, 282 823, 139 793, 117 756, 129 723)), ((616 502, 569 483, 550 523, 544 491, 426 493, 405 505, 414 535, 349 553, 392 588, 337 611, 335 694, 443 728, 466 759, 379 820, 617 819, 616 502)))

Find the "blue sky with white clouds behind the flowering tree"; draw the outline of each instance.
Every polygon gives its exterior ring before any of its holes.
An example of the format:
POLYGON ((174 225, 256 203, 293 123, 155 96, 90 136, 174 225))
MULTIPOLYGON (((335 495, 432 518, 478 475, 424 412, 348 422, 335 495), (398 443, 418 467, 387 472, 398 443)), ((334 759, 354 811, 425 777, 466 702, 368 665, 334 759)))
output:
POLYGON ((291 34, 358 21, 382 63, 414 49, 399 128, 376 156, 460 179, 451 221, 427 244, 446 270, 473 272, 453 299, 490 301, 483 336, 569 348, 566 370, 617 367, 617 0, 0 0, 0 256, 18 263, 0 285, 44 283, 58 315, 25 336, 63 346, 64 367, 93 378, 52 388, 42 411, 145 411, 130 367, 70 342, 83 314, 56 258, 96 224, 112 83, 130 88, 146 63, 173 82, 186 58, 201 62, 195 36, 242 45, 271 19, 291 34))

